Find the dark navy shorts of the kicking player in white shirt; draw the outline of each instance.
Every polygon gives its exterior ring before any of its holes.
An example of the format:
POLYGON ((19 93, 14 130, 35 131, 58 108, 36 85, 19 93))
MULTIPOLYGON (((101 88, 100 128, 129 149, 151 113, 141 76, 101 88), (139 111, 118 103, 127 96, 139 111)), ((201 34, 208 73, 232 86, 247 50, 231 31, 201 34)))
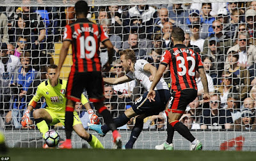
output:
POLYGON ((161 111, 164 111, 166 104, 168 103, 171 94, 170 90, 155 90, 155 101, 148 101, 147 94, 145 92, 134 104, 132 104, 133 111, 138 114, 145 114, 147 116, 159 115, 161 111))

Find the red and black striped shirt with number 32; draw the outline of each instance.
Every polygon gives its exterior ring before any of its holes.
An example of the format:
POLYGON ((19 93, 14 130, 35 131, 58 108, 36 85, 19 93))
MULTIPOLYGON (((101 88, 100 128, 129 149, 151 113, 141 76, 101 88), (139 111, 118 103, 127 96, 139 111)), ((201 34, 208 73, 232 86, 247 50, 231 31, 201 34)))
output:
POLYGON ((166 50, 161 58, 161 64, 170 65, 172 75, 172 90, 193 88, 197 90, 195 74, 203 67, 201 57, 185 45, 177 44, 171 50, 166 50))

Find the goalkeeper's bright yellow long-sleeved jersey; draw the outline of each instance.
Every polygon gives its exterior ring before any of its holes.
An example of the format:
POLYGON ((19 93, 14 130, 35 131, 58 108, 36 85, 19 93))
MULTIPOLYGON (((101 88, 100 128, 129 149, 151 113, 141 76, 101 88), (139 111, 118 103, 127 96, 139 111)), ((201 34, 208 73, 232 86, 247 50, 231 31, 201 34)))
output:
MULTIPOLYGON (((41 97, 45 97, 47 109, 54 113, 65 113, 67 102, 67 98, 65 97, 66 87, 66 80, 59 79, 59 83, 55 87, 52 87, 49 80, 43 81, 40 83, 40 85, 38 85, 36 94, 29 102, 29 105, 33 106, 33 102, 38 102, 41 97)), ((83 105, 88 102, 88 99, 86 99, 83 94, 81 95, 81 102, 83 105)))

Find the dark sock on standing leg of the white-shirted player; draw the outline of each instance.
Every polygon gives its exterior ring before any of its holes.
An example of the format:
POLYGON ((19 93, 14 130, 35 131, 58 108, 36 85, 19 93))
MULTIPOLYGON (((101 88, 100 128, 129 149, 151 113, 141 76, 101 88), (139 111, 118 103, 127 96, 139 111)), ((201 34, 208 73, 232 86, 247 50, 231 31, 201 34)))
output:
POLYGON ((136 118, 136 123, 132 129, 129 141, 125 144, 125 149, 132 149, 133 144, 140 136, 142 129, 143 129, 143 119, 136 118))

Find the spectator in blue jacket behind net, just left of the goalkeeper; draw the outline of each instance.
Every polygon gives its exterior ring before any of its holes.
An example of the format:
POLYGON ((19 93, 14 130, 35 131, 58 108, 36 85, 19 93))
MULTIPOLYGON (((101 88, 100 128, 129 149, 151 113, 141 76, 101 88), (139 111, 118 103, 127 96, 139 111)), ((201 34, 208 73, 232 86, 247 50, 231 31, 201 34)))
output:
POLYGON ((38 72, 31 66, 31 54, 29 52, 20 55, 21 67, 18 73, 13 75, 11 80, 12 87, 12 120, 15 128, 20 128, 20 119, 26 109, 26 104, 29 102, 27 99, 28 88, 36 80, 38 72))

